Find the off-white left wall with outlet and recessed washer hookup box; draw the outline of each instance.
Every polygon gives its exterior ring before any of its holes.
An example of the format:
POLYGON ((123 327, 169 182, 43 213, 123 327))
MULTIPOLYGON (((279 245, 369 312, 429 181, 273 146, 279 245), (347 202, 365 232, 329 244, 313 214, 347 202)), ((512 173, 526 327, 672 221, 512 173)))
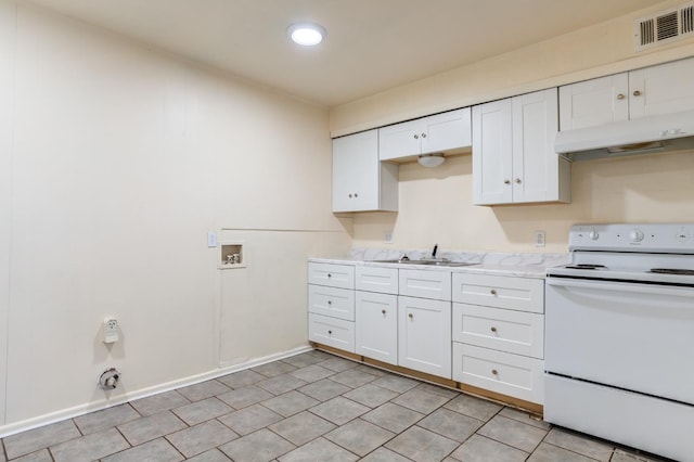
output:
POLYGON ((241 286, 222 304, 206 233, 247 230, 252 254, 283 230, 322 243, 275 246, 236 277, 347 253, 326 110, 14 1, 0 34, 0 434, 214 372, 222 345, 248 360, 306 345, 300 322, 267 322, 255 334, 271 348, 224 338, 222 319, 301 319, 306 295, 278 307, 241 286), (111 347, 106 316, 123 329, 111 347), (123 372, 110 395, 95 387, 107 367, 123 372))

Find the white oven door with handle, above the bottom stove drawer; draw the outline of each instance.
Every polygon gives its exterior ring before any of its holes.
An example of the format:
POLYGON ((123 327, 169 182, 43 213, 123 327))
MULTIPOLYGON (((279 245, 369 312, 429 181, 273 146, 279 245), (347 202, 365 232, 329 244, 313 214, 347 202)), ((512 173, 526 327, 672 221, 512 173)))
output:
POLYGON ((694 287, 548 278, 548 373, 694 405, 694 287))

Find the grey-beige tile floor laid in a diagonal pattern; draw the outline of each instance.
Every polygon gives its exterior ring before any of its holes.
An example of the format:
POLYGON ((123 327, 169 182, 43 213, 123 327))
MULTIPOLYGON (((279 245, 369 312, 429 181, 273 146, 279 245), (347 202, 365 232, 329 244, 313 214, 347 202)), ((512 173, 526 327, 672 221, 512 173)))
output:
POLYGON ((322 351, 28 431, 0 462, 657 461, 322 351))

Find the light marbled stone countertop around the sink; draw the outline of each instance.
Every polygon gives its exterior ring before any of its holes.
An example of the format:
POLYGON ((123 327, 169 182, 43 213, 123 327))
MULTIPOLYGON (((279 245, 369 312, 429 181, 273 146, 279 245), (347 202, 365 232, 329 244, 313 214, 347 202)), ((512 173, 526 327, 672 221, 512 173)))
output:
POLYGON ((566 265, 570 260, 568 254, 504 254, 480 252, 442 252, 437 257, 451 261, 471 261, 479 265, 467 267, 444 267, 412 264, 384 264, 373 260, 397 259, 407 255, 412 260, 426 257, 417 251, 393 251, 380 248, 352 248, 348 257, 344 258, 309 258, 309 261, 334 265, 368 265, 395 268, 410 268, 425 271, 451 271, 473 274, 512 275, 518 278, 543 279, 547 269, 566 265))

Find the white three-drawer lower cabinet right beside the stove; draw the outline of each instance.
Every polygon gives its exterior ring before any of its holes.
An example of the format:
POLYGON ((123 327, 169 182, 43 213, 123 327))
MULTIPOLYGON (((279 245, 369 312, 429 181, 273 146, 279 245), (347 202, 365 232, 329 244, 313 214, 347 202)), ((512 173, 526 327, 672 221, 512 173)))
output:
POLYGON ((454 381, 543 402, 544 281, 453 273, 454 381))

